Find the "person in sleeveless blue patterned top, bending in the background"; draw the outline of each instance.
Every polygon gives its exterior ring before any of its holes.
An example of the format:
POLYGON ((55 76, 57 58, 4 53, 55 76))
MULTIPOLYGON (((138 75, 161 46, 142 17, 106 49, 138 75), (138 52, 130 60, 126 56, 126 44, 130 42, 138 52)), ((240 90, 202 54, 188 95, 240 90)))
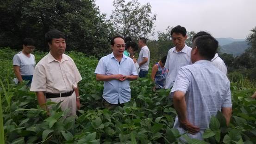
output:
POLYGON ((153 90, 160 90, 165 88, 165 81, 168 69, 164 67, 167 55, 162 57, 153 67, 151 72, 151 79, 155 82, 153 90))

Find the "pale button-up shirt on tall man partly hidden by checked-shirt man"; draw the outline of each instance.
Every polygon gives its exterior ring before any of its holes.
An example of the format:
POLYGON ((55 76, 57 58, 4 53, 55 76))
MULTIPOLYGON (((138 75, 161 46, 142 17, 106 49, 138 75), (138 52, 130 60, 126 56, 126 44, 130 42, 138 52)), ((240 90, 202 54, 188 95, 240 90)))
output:
POLYGON ((192 63, 190 60, 191 49, 192 48, 185 44, 185 47, 180 52, 177 52, 176 47, 171 48, 168 51, 164 65, 166 69, 169 69, 166 77, 165 89, 170 89, 173 86, 180 67, 192 63))

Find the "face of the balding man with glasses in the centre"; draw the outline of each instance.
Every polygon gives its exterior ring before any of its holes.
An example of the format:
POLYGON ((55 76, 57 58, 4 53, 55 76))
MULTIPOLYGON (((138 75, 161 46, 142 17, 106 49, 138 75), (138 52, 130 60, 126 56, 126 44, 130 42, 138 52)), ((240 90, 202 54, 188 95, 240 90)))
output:
POLYGON ((125 51, 125 41, 122 38, 117 37, 114 39, 114 45, 111 45, 111 48, 115 56, 123 55, 125 51))

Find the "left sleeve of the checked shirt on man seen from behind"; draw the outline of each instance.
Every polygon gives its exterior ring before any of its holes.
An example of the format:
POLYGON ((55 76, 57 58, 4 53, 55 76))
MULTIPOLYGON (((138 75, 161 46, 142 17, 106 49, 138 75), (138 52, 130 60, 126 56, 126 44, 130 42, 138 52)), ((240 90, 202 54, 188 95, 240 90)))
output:
POLYGON ((172 90, 170 92, 171 98, 173 98, 175 91, 182 91, 186 94, 189 84, 190 84, 190 74, 189 72, 187 72, 187 69, 181 67, 175 79, 172 90))

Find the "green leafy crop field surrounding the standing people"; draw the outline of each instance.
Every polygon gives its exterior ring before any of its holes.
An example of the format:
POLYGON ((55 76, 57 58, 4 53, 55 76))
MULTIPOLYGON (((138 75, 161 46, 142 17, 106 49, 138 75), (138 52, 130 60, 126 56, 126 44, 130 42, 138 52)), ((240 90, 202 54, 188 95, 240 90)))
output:
MULTIPOLYGON (((77 52, 68 55, 83 78, 79 83, 82 107, 77 117, 65 117, 59 103, 47 102, 52 105, 49 116, 37 106, 34 92, 12 82, 16 53, 9 48, 0 50, 1 144, 176 144, 179 137, 189 144, 256 144, 256 100, 250 98, 255 86, 234 74, 230 126, 218 113, 204 134, 205 141, 198 141, 172 128, 176 112, 167 98, 170 90, 153 92, 150 78, 131 82, 131 101, 123 108, 102 108, 103 83, 94 74, 98 60, 77 52)), ((36 52, 37 62, 45 54, 36 52)))

